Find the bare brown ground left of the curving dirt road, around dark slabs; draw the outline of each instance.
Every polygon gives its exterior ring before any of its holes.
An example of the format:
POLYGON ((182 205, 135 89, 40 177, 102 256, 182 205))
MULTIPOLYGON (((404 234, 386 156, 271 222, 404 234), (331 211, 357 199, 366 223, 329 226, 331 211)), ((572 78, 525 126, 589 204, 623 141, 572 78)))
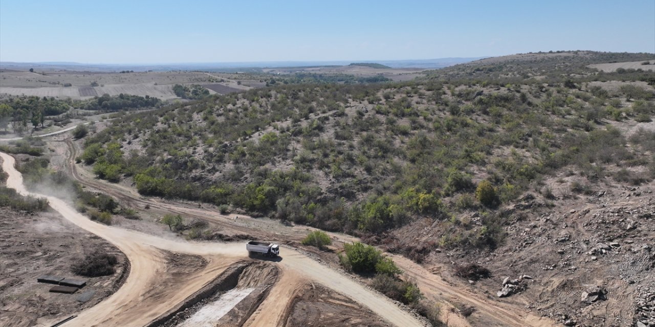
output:
POLYGON ((28 327, 41 319, 63 319, 107 298, 124 280, 125 256, 100 237, 71 224, 58 213, 20 213, 0 208, 0 326, 28 327), (83 277, 71 264, 94 251, 119 259, 113 275, 83 277), (52 284, 37 277, 55 275, 87 281, 76 294, 50 293, 52 284), (94 290, 86 303, 75 300, 94 290))

